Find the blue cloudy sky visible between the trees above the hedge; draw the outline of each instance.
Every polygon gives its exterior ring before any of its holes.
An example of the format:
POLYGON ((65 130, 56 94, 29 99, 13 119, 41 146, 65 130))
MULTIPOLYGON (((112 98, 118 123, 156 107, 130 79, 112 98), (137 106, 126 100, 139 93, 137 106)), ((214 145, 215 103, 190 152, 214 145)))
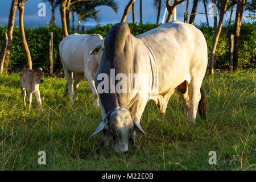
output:
MULTIPOLYGON (((129 0, 116 0, 118 2, 118 13, 115 14, 115 12, 107 6, 100 6, 97 7, 97 10, 100 11, 100 22, 95 22, 94 20, 88 20, 86 22, 81 22, 81 26, 84 25, 85 27, 89 28, 92 26, 95 26, 97 23, 101 24, 106 24, 106 23, 118 23, 120 22, 123 14, 123 10, 125 9, 125 6, 127 5, 127 2, 129 0)), ((9 12, 10 12, 10 6, 11 6, 11 0, 1 0, 3 2, 0 7, 0 24, 8 24, 8 18, 9 18, 9 12)), ((39 3, 42 3, 43 0, 29 0, 25 4, 25 10, 24 10, 24 26, 25 27, 42 27, 46 26, 46 24, 49 23, 51 20, 51 6, 47 2, 43 2, 46 5, 46 16, 39 17, 38 16, 38 11, 40 10, 40 7, 38 7, 39 3)), ((191 13, 192 9, 192 2, 189 1, 189 14, 191 13)), ((186 3, 180 4, 177 6, 177 20, 184 20, 184 12, 185 12, 185 7, 186 3)), ((135 21, 139 22, 139 0, 135 1, 135 21)), ((209 5, 207 5, 208 7, 209 5)), ((162 10, 160 14, 160 22, 162 22, 163 19, 163 14, 165 10, 165 5, 162 5, 162 10)), ((208 7, 208 11, 210 10, 210 7, 208 7)), ((233 18, 235 18, 235 11, 233 13, 233 18)), ((153 0, 142 0, 142 17, 143 17, 143 23, 151 22, 155 23, 156 22, 156 14, 157 11, 153 8, 153 0)), ((199 5, 197 7, 197 12, 199 13, 204 13, 204 5, 203 3, 199 2, 199 5)), ((55 10, 56 13, 56 24, 57 26, 61 26, 61 20, 60 20, 60 11, 59 9, 55 10)), ((228 21, 230 13, 226 13, 225 15, 225 20, 228 21)), ((243 17, 245 17, 247 13, 245 12, 243 17)), ((16 11, 16 16, 15 16, 15 24, 14 26, 18 26, 18 17, 19 17, 19 11, 17 9, 16 11)), ((210 26, 213 26, 213 16, 209 17, 209 23, 210 26)), ((224 20, 224 24, 225 24, 224 20)), ((75 27, 77 26, 77 16, 75 15, 75 27)), ((127 16, 126 22, 132 22, 132 15, 131 11, 127 16)), ((197 14, 195 18, 195 24, 200 24, 202 22, 206 22, 206 18, 204 14, 197 14)), ((71 22, 72 24, 72 22, 71 22)))

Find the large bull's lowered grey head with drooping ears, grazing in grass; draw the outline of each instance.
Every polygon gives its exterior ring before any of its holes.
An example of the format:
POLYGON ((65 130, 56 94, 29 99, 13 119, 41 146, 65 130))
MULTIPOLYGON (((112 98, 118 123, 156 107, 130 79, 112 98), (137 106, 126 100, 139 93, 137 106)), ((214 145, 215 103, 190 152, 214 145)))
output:
POLYGON ((135 131, 139 135, 146 136, 130 111, 123 108, 110 111, 89 139, 96 137, 100 131, 104 132, 103 143, 106 146, 108 146, 109 137, 112 137, 115 152, 128 152, 128 142, 134 137, 135 131))

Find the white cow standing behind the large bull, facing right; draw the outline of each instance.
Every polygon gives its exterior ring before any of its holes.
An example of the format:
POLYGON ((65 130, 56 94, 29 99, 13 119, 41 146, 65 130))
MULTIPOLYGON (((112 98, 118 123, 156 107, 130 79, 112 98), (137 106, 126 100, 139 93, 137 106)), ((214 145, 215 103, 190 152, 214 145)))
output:
POLYGON ((92 90, 94 105, 98 106, 98 93, 94 85, 94 76, 100 64, 104 41, 101 35, 72 34, 65 37, 59 45, 70 102, 77 100, 77 88, 82 77, 85 76, 92 90), (92 51, 94 50, 94 51, 92 51), (72 85, 71 72, 75 74, 72 85))

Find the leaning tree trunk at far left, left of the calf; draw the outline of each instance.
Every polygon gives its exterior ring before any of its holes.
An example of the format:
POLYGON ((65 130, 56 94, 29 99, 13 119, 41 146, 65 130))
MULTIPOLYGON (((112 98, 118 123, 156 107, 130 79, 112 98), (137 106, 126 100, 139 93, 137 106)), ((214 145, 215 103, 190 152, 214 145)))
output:
POLYGON ((8 42, 7 42, 7 48, 6 48, 6 54, 5 54, 5 63, 3 65, 3 72, 7 72, 7 68, 9 64, 11 42, 13 40, 13 27, 14 27, 14 20, 15 20, 17 6, 18 6, 18 0, 13 0, 11 2, 11 9, 10 9, 9 20, 8 20, 8 28, 7 28, 8 42))

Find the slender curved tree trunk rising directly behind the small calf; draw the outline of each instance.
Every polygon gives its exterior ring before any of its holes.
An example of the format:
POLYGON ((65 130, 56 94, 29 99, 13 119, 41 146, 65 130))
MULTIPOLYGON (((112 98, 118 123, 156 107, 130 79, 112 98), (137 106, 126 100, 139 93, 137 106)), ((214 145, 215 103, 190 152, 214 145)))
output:
POLYGON ((24 23, 23 23, 24 3, 23 3, 23 0, 19 0, 18 9, 19 9, 20 38, 22 39, 22 46, 23 46, 24 53, 25 53, 26 59, 27 59, 27 68, 32 69, 32 60, 31 60, 31 55, 30 55, 30 49, 28 49, 27 40, 26 40, 26 36, 25 36, 25 31, 24 31, 24 23))

